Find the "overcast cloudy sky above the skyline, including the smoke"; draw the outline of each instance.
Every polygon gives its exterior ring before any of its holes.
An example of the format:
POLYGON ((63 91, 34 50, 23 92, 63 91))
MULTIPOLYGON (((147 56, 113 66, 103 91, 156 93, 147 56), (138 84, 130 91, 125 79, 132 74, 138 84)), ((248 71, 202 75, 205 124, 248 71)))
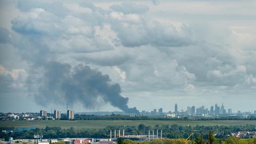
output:
POLYGON ((0 1, 0 111, 256 110, 255 7, 0 1))

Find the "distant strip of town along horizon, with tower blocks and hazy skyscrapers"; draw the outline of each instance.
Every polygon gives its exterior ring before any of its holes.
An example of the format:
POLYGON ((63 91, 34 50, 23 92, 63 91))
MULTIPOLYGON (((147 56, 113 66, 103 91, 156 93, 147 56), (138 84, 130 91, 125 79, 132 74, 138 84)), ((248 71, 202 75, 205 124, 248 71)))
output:
MULTIPOLYGON (((135 108, 136 109, 136 108, 135 108)), ((163 108, 153 109, 152 111, 142 110, 138 113, 127 113, 124 111, 96 111, 96 112, 83 112, 75 113, 74 110, 67 108, 67 113, 62 114, 61 110, 54 109, 53 113, 47 113, 46 110, 41 110, 39 113, 0 113, 1 121, 15 121, 15 120, 74 120, 77 119, 79 115, 94 115, 94 116, 107 116, 107 115, 124 115, 129 117, 145 116, 151 118, 187 118, 187 119, 197 119, 197 118, 223 118, 223 117, 236 117, 236 118, 250 118, 256 116, 256 110, 251 111, 236 111, 235 113, 231 108, 225 109, 225 106, 211 106, 210 109, 204 106, 196 108, 195 106, 188 106, 187 109, 181 108, 178 110, 178 105, 175 103, 174 111, 163 112, 163 108)))

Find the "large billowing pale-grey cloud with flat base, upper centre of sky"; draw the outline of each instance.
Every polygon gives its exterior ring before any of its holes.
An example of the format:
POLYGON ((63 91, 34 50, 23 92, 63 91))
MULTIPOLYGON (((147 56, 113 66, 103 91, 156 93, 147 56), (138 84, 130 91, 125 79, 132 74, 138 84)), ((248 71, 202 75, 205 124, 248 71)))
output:
POLYGON ((111 18, 111 28, 123 46, 184 46, 192 43, 189 35, 182 33, 183 27, 179 32, 173 25, 144 20, 140 15, 111 13, 111 18))

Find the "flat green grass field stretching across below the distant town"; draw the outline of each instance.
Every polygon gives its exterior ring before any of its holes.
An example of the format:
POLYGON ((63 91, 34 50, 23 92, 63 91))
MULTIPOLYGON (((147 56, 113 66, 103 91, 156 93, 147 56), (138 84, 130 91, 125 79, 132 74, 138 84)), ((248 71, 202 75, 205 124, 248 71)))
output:
POLYGON ((130 125, 130 126, 138 126, 139 124, 151 125, 154 126, 156 124, 178 124, 178 125, 246 125, 246 124, 254 124, 256 125, 256 121, 245 121, 245 120, 234 120, 234 121, 111 121, 111 120, 90 120, 90 121, 4 121, 0 122, 0 127, 29 127, 36 125, 38 128, 44 128, 45 126, 60 126, 61 128, 69 128, 69 127, 77 127, 77 129, 102 129, 106 126, 111 125, 130 125))

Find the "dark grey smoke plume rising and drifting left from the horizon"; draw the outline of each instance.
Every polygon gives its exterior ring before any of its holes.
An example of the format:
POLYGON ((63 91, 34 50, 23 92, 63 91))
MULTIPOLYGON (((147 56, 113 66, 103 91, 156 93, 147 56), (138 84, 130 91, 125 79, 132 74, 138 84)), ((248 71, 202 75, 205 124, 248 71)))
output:
POLYGON ((70 65, 59 62, 50 62, 45 69, 38 102, 42 102, 42 99, 45 103, 65 99, 69 105, 82 102, 86 108, 95 108, 104 104, 99 103, 100 98, 127 113, 138 113, 136 108, 127 106, 129 99, 120 95, 119 84, 110 84, 109 76, 102 75, 100 71, 84 65, 72 69, 70 65))

